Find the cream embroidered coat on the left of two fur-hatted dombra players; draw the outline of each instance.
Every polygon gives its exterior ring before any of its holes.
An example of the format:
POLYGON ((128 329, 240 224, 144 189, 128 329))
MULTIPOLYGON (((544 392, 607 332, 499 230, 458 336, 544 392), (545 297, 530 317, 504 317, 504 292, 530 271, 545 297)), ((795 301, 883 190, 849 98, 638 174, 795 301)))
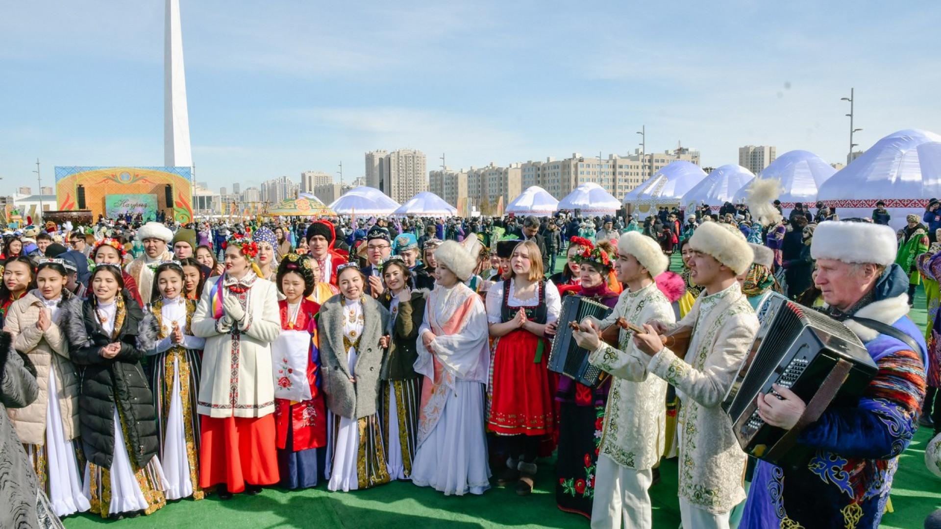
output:
MULTIPOLYGON (((637 292, 622 292, 614 311, 599 327, 605 329, 622 316, 638 326, 650 320, 670 324, 675 321, 670 301, 655 282, 637 292)), ((618 344, 614 348, 602 343, 588 357, 588 361, 614 377, 604 412, 599 454, 611 457, 622 467, 644 471, 653 468, 663 453, 667 384, 647 372, 650 357, 637 350, 630 332, 621 329, 618 344)))

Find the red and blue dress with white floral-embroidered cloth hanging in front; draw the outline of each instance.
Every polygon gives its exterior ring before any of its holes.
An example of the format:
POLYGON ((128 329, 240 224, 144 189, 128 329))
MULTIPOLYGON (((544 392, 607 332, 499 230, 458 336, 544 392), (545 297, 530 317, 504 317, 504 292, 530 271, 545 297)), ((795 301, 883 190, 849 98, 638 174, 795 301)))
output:
POLYGON ((281 329, 284 332, 272 345, 272 355, 275 377, 278 380, 275 388, 275 427, 278 432, 281 487, 316 487, 319 473, 317 448, 327 446, 327 412, 324 409, 323 393, 320 392, 320 352, 317 347, 317 326, 313 318, 320 310, 320 305, 309 299, 302 299, 298 305, 291 306, 286 299, 282 299, 278 302, 278 307, 281 329), (293 332, 298 333, 298 336, 302 336, 301 333, 308 335, 307 354, 303 355, 303 359, 292 360, 289 354, 279 354, 287 352, 280 341, 288 342, 287 337, 293 332), (303 401, 278 398, 279 394, 287 394, 294 389, 291 386, 296 385, 295 377, 291 375, 301 368, 306 373, 301 383, 307 383, 311 397, 303 401))

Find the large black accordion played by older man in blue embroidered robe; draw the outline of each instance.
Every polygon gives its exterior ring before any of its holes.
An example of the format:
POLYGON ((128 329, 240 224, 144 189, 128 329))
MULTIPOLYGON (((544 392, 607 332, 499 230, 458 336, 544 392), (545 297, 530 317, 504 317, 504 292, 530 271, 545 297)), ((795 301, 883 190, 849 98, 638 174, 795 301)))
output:
POLYGON ((801 465, 813 455, 797 444, 805 425, 830 407, 854 405, 878 369, 852 330, 787 297, 765 297, 758 319, 755 342, 722 407, 745 453, 775 465, 801 465), (758 416, 758 393, 778 396, 773 384, 806 403, 804 415, 789 430, 758 416))

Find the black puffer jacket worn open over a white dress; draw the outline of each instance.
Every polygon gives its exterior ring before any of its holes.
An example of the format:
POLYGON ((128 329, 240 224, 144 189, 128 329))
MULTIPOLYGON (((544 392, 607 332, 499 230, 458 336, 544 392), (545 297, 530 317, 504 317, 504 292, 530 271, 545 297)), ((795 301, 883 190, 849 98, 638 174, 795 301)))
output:
POLYGON ((157 329, 152 314, 143 313, 126 290, 120 295, 127 315, 117 340, 104 332, 90 298, 73 297, 63 308, 72 362, 85 366, 78 399, 85 456, 96 465, 111 468, 117 402, 127 442, 133 448, 131 462, 137 470, 157 455, 159 443, 153 394, 140 366, 140 359, 155 345, 157 329), (102 347, 115 341, 121 344, 120 353, 104 359, 102 347))

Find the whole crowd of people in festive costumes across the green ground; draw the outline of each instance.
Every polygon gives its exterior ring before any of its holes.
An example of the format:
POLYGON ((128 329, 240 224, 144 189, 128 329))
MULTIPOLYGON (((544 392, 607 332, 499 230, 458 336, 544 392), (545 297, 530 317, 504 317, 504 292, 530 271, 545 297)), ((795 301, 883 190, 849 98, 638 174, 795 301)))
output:
POLYGON ((901 232, 884 209, 765 205, 5 233, 0 526, 408 480, 521 496, 543 481, 592 527, 650 527, 649 489, 678 457, 684 527, 876 527, 917 425, 941 425, 941 247, 921 224, 941 229, 939 204, 901 232), (921 279, 927 333, 906 315, 921 279), (759 396, 765 422, 801 429, 805 466, 749 464, 720 406, 772 292, 844 322, 879 367, 809 425, 787 388, 759 396), (569 329, 570 296, 612 311, 569 329), (646 331, 603 340, 619 317, 646 331), (682 329, 685 351, 664 345, 682 329), (562 332, 598 385, 548 369, 562 332))

